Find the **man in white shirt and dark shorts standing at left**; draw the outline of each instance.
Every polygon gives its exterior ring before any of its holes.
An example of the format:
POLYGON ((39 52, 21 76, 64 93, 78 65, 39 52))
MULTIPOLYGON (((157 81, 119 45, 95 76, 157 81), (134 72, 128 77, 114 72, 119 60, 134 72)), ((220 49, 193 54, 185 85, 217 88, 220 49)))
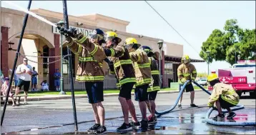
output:
POLYGON ((31 75, 32 75, 32 67, 28 64, 28 59, 23 59, 23 64, 20 64, 17 67, 16 74, 19 74, 19 81, 18 85, 16 87, 16 95, 19 94, 19 91, 22 86, 24 86, 24 104, 28 104, 26 102, 26 96, 28 95, 30 81, 31 81, 31 75))

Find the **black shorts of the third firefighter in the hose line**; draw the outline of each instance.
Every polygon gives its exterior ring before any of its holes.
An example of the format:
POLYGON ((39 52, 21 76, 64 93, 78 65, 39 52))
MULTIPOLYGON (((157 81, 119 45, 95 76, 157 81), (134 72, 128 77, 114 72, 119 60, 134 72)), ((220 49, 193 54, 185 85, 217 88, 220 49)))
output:
POLYGON ((147 88, 149 84, 144 84, 142 86, 137 86, 135 88, 135 100, 136 101, 147 101, 147 88))

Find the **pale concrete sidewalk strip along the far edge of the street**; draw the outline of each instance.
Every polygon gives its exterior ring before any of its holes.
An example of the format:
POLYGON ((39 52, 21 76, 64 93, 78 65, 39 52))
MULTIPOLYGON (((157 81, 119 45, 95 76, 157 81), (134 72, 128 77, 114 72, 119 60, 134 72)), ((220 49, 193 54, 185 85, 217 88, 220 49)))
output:
MULTIPOLYGON (((200 91, 201 89, 195 89, 195 91, 200 91)), ((158 91, 158 94, 172 94, 172 93, 178 93, 179 91, 158 91)), ((132 92, 132 95, 134 95, 134 92, 132 92)), ((87 94, 79 94, 74 95, 75 98, 87 98, 87 94)), ((119 94, 104 94, 104 97, 108 96, 119 96, 119 94)), ((54 99, 72 99, 72 95, 44 95, 44 96, 28 96, 26 99, 27 101, 41 101, 41 100, 54 100, 54 99)), ((21 101, 24 101, 23 98, 21 98, 21 101)))

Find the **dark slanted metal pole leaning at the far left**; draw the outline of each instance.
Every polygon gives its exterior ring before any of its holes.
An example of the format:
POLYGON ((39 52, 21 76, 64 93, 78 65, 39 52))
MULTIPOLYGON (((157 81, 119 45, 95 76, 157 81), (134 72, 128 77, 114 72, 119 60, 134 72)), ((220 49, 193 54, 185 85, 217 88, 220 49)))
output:
MULTIPOLYGON (((30 6, 31 6, 31 2, 32 0, 29 0, 29 4, 28 4, 28 10, 30 10, 30 6)), ((21 42, 22 42, 22 39, 23 39, 23 35, 24 35, 24 31, 25 31, 25 28, 26 28, 26 22, 28 21, 28 18, 29 18, 29 14, 26 14, 25 17, 24 17, 24 21, 23 21, 23 26, 22 26, 22 30, 21 30, 21 37, 19 38, 19 44, 18 44, 18 48, 17 48, 17 51, 16 51, 16 56, 15 56, 15 59, 14 59, 14 66, 12 67, 12 71, 11 71, 11 79, 9 81, 9 87, 8 87, 8 91, 7 91, 7 94, 6 94, 6 101, 4 101, 4 109, 3 109, 3 114, 1 115, 1 126, 3 124, 3 121, 4 121, 4 114, 5 114, 5 110, 6 110, 6 105, 7 105, 7 102, 8 102, 8 98, 9 98, 9 92, 11 90, 11 82, 12 82, 12 79, 14 78, 14 71, 15 71, 15 67, 16 67, 16 64, 17 64, 17 59, 18 59, 18 53, 19 53, 19 49, 21 49, 21 42)))

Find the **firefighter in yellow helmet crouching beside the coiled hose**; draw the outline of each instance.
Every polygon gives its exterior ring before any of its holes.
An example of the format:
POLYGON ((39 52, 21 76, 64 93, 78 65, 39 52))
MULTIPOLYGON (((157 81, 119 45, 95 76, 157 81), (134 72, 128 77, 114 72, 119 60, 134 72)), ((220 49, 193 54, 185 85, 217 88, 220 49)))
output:
POLYGON ((232 119, 234 116, 236 116, 236 114, 235 112, 232 112, 230 107, 236 106, 240 100, 238 94, 235 92, 235 89, 231 85, 221 83, 217 74, 210 74, 207 77, 207 81, 211 86, 213 86, 212 94, 209 97, 208 106, 213 107, 214 104, 216 104, 217 111, 219 112, 214 119, 225 119, 222 109, 227 109, 227 111, 229 111, 227 119, 232 119))

